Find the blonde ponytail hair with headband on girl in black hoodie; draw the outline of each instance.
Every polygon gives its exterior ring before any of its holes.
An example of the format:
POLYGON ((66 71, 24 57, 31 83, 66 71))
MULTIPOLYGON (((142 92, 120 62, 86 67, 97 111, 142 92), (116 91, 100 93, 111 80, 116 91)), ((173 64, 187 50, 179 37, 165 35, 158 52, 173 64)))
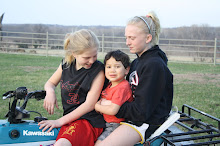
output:
POLYGON ((146 34, 152 35, 151 46, 158 45, 160 36, 160 20, 155 12, 151 11, 147 16, 136 16, 130 19, 127 25, 137 25, 146 34))

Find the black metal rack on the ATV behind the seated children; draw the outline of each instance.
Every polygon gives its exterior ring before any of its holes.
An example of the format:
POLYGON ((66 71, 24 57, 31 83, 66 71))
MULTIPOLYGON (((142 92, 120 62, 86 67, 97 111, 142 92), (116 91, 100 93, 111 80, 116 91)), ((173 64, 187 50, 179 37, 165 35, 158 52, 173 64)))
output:
POLYGON ((157 139, 162 139, 164 146, 168 144, 171 146, 201 146, 220 143, 220 119, 186 104, 182 106, 182 111, 179 113, 180 119, 175 122, 175 126, 171 126, 165 131, 165 134, 154 137, 147 143, 151 144, 157 139), (199 117, 205 116, 209 121, 216 122, 217 128, 193 117, 192 112, 199 114, 199 117))

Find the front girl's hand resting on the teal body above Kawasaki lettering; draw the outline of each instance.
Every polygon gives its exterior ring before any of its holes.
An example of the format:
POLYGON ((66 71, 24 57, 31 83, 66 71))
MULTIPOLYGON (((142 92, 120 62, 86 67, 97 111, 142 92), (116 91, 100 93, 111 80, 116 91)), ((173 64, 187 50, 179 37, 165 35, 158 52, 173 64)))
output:
POLYGON ((50 132, 53 128, 62 126, 58 120, 45 120, 39 122, 38 125, 40 126, 39 129, 43 129, 42 132, 46 131, 48 128, 49 130, 47 130, 47 132, 50 132))

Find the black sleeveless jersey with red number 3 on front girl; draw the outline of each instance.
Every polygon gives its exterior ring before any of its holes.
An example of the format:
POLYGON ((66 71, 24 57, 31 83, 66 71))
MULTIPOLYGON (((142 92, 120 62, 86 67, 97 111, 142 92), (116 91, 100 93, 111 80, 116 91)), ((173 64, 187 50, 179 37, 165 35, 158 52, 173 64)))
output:
MULTIPOLYGON (((64 110, 63 115, 66 115, 85 102, 92 81, 101 70, 104 70, 104 65, 96 61, 89 69, 81 68, 76 70, 75 63, 73 62, 70 66, 67 66, 66 63, 62 64, 62 69, 60 87, 64 110)), ((83 115, 80 119, 87 119, 93 127, 105 127, 103 116, 95 110, 83 115)))

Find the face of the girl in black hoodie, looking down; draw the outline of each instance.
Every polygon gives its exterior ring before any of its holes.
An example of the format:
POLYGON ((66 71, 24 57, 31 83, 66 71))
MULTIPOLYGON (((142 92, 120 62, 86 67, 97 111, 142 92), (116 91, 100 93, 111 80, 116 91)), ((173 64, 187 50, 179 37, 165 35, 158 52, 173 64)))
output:
POLYGON ((149 48, 149 39, 136 25, 127 25, 125 28, 126 45, 132 54, 141 56, 149 48))

